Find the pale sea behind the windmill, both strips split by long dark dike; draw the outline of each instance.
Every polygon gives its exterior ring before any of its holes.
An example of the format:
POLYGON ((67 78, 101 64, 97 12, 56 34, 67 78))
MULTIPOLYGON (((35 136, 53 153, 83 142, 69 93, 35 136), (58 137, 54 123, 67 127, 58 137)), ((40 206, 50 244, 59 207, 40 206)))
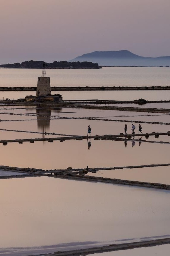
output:
MULTIPOLYGON (((0 87, 36 87, 41 69, 0 69, 0 87)), ((170 86, 170 68, 103 67, 102 69, 47 69, 51 86, 170 86)), ((169 91, 56 91, 63 100, 169 100, 169 91)), ((25 98, 36 92, 0 92, 0 99, 25 98)))

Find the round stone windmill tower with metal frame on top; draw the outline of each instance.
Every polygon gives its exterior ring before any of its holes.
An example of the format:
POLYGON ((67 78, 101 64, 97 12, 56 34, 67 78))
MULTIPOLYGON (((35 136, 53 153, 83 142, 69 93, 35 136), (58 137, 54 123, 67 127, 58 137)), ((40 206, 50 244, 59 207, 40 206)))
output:
POLYGON ((36 97, 51 95, 50 77, 46 76, 46 66, 47 64, 43 62, 42 76, 38 77, 36 97))

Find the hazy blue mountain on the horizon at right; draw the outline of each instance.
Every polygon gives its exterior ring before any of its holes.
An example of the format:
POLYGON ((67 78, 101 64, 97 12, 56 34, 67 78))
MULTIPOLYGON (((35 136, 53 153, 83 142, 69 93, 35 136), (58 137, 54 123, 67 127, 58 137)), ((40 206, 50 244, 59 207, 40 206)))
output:
POLYGON ((170 66, 170 56, 142 57, 127 50, 86 53, 70 61, 91 61, 100 66, 170 66))

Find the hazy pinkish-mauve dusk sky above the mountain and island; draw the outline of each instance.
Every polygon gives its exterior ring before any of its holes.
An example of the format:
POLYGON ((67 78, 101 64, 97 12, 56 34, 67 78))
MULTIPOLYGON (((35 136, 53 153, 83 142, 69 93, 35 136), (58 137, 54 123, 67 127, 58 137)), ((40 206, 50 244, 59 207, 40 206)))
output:
POLYGON ((0 63, 170 56, 170 0, 0 0, 0 63))

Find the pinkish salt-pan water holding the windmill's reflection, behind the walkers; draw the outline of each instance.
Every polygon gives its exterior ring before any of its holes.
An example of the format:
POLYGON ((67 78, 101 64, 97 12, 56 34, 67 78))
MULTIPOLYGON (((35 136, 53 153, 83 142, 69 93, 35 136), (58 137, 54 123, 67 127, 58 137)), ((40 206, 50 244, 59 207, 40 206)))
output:
MULTIPOLYGON (((0 111, 4 113, 0 114, 0 119, 7 120, 1 122, 1 129, 12 129, 30 132, 50 132, 68 135, 86 135, 88 125, 90 125, 92 128, 92 135, 119 134, 120 132, 124 132, 126 120, 132 122, 138 121, 137 123, 135 123, 136 133, 138 132, 138 124, 140 121, 157 121, 170 123, 169 115, 161 113, 77 108, 24 108, 23 106, 21 106, 20 108, 10 107, 8 109, 1 107, 0 111), (88 119, 62 119, 63 117, 91 117, 104 120, 118 119, 125 121, 114 122, 88 119)), ((131 133, 132 122, 127 122, 127 133, 131 133)), ((164 124, 161 125, 141 123, 141 125, 143 133, 167 132, 170 130, 169 125, 164 124)), ((1 138, 3 139, 42 138, 41 134, 16 133, 7 131, 0 131, 0 133, 1 138)), ((53 137, 53 135, 46 135, 46 137, 47 136, 53 137)), ((155 140, 155 138, 150 137, 149 140, 155 140)), ((170 136, 160 136, 160 138, 156 140, 170 141, 170 136)))

